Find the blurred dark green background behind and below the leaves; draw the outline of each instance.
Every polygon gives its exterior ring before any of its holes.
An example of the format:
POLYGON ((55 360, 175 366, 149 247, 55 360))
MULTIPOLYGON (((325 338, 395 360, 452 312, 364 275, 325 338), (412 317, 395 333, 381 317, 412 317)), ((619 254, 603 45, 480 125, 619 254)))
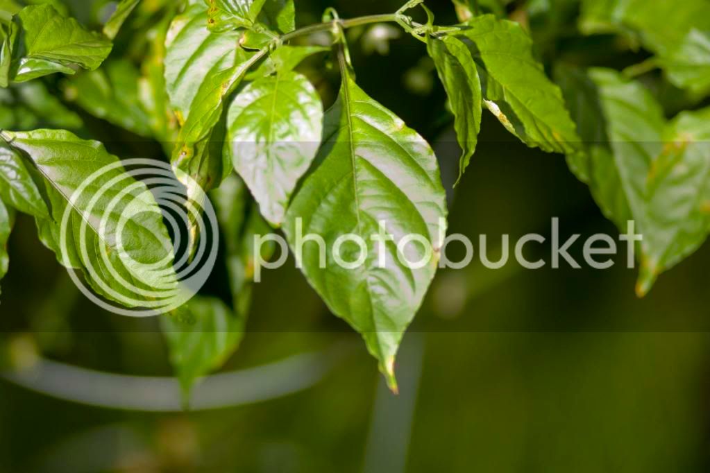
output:
MULTIPOLYGON (((427 4, 437 23, 456 22, 448 0, 427 4)), ((327 6, 353 17, 390 13, 400 1, 296 6, 305 25, 327 6)), ((74 11, 96 21, 97 9, 86 2, 75 0, 74 11)), ((435 145, 450 188, 459 150, 424 48, 402 37, 383 55, 368 45, 368 31, 359 33, 351 32, 351 50, 361 87, 435 145)), ((630 59, 608 47, 608 38, 551 41, 541 55, 608 66, 630 59)), ((310 75, 332 97, 337 72, 310 75)), ((114 131, 105 125, 97 133, 114 131)), ((450 196, 453 233, 486 234, 492 242, 503 233, 547 235, 559 217, 567 235, 618 234, 563 157, 525 148, 490 114, 481 140, 450 196)), ((140 143, 109 148, 124 157, 143 151, 140 143)), ((100 392, 92 384, 100 372, 170 376, 157 322, 85 301, 35 233, 33 221, 20 216, 9 243, 0 305, 5 361, 30 373, 41 358, 91 369, 60 379, 87 399, 100 392)), ((549 247, 539 251, 547 255, 549 247)), ((359 337, 331 316, 291 260, 256 287, 249 333, 224 372, 284 359, 293 365, 215 385, 223 404, 237 405, 187 412, 87 406, 4 377, 0 473, 708 471, 710 246, 665 274, 643 300, 634 295, 626 255, 616 262, 605 271, 526 271, 510 263, 439 273, 405 337, 401 393, 393 396, 359 337), (293 358, 304 353, 315 357, 293 358), (293 394, 272 399, 278 392, 261 389, 294 379, 301 383, 293 394), (245 397, 249 390, 255 394, 245 397)), ((207 291, 219 294, 223 274, 217 270, 207 291)), ((137 404, 155 394, 117 380, 119 398, 122 387, 137 404)))

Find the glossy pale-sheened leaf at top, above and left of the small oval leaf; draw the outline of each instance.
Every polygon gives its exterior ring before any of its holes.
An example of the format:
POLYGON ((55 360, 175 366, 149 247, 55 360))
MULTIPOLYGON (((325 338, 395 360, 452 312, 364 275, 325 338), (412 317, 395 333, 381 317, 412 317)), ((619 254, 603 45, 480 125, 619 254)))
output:
POLYGON ((178 112, 180 124, 202 84, 222 69, 244 59, 237 32, 216 34, 207 30, 207 7, 190 5, 170 24, 165 41, 165 84, 170 104, 178 112))

